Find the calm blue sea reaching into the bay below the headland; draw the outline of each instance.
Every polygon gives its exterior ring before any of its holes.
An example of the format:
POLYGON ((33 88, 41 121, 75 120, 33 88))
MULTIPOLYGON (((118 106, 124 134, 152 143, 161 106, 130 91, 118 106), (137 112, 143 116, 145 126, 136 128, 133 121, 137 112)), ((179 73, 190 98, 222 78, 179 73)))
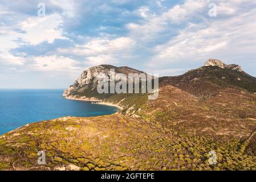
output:
POLYGON ((0 135, 27 123, 64 116, 91 117, 118 109, 91 102, 66 100, 64 90, 0 90, 0 135))

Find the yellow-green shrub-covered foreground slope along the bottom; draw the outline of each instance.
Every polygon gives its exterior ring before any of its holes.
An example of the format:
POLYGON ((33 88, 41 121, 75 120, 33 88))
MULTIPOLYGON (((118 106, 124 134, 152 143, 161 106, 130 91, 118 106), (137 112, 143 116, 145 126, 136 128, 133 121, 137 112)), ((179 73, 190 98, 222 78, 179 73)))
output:
POLYGON ((239 140, 218 142, 180 134, 161 124, 120 114, 59 118, 27 125, 0 139, 5 170, 219 170, 255 169, 239 140), (218 164, 208 162, 217 152, 218 164), (38 165, 38 151, 46 165, 38 165))

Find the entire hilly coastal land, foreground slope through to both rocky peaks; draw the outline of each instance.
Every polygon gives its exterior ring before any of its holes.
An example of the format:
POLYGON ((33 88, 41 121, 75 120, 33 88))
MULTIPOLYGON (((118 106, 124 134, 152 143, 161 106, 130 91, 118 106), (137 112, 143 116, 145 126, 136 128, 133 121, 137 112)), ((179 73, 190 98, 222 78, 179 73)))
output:
POLYGON ((36 122, 0 137, 0 170, 256 170, 256 78, 208 60, 159 78, 159 98, 97 94, 97 75, 135 72, 100 65, 63 96, 120 106, 100 117, 36 122), (38 152, 46 164, 38 164, 38 152), (209 159, 216 154, 216 163, 209 159))

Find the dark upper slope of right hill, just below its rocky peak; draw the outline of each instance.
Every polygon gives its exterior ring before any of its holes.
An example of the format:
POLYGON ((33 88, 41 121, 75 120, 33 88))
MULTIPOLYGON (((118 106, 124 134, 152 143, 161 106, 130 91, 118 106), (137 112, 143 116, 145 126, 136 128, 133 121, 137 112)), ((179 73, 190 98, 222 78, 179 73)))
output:
POLYGON ((250 93, 256 92, 255 77, 245 72, 220 67, 193 69, 182 76, 166 77, 165 81, 196 96, 211 95, 223 87, 243 89, 250 93))

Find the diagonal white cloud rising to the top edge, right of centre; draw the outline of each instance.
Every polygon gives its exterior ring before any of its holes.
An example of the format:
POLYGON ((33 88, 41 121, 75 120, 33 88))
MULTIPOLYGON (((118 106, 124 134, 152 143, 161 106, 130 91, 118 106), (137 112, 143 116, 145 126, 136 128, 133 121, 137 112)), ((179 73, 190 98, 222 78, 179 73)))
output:
MULTIPOLYGON (((170 26, 193 19, 194 14, 205 11, 207 9, 206 5, 208 5, 207 2, 209 0, 186 0, 184 4, 176 5, 158 16, 156 14, 147 15, 147 19, 141 24, 128 23, 127 28, 130 31, 130 36, 133 39, 146 42, 157 39, 161 36, 161 32, 168 30, 170 26)), ((172 32, 171 29, 170 31, 172 32)))

